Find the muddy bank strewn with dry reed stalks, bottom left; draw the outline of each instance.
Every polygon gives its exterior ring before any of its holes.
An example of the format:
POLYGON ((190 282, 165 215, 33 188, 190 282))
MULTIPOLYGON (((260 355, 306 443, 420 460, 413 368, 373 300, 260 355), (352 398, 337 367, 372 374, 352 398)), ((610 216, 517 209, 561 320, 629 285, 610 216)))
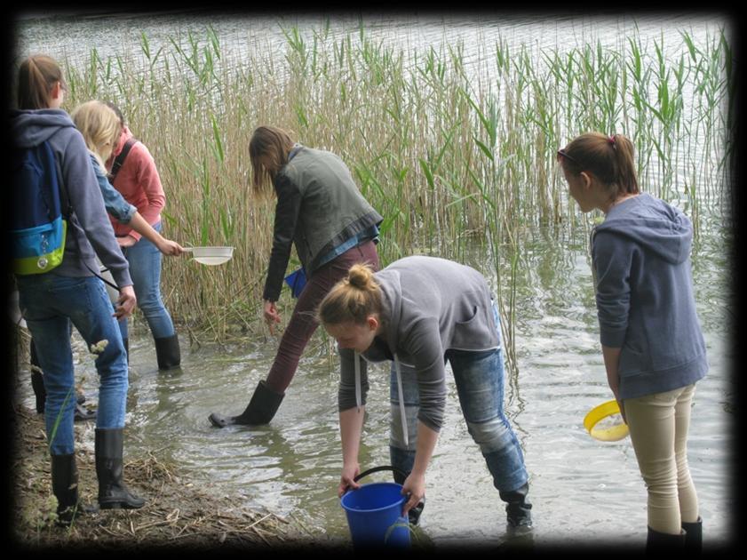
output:
MULTIPOLYGON (((299 521, 268 511, 236 508, 228 496, 203 482, 193 484, 154 453, 127 456, 124 480, 147 499, 138 510, 104 510, 76 517, 69 528, 54 523, 50 460, 43 415, 16 405, 12 418, 10 536, 15 548, 298 548, 323 546, 299 521)), ((76 460, 83 504, 98 492, 92 444, 93 422, 75 423, 76 460)), ((126 445, 126 443, 125 443, 126 445)), ((323 536, 322 536, 323 539, 323 536)))

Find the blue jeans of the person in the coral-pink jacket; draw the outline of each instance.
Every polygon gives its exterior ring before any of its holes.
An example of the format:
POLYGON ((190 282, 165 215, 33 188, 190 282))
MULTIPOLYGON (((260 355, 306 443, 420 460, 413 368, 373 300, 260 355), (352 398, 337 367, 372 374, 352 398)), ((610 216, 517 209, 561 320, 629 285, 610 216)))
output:
MULTIPOLYGON (((156 223, 153 228, 160 232, 161 222, 156 223)), ((138 243, 124 248, 122 252, 130 263, 130 276, 138 298, 138 307, 146 318, 153 338, 166 339, 173 336, 174 324, 161 299, 161 252, 145 237, 140 237, 138 243)), ((126 339, 129 336, 126 319, 119 322, 119 328, 122 338, 126 339)))

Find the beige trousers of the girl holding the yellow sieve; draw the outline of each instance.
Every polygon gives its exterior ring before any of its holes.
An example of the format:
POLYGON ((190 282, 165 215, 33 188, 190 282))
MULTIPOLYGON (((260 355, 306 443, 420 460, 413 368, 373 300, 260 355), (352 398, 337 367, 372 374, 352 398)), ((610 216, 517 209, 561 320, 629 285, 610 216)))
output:
POLYGON ((624 401, 640 474, 648 490, 648 526, 679 534, 698 518, 695 484, 687 467, 687 431, 695 384, 624 401))

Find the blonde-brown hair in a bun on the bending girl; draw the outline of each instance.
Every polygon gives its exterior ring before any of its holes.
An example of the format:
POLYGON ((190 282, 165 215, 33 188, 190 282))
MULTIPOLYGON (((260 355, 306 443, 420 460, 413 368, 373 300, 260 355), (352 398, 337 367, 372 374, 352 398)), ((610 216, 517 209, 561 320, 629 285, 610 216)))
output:
POLYGON ((381 289, 374 278, 373 268, 367 264, 355 264, 347 276, 324 296, 316 317, 322 325, 363 324, 370 315, 380 312, 381 289))

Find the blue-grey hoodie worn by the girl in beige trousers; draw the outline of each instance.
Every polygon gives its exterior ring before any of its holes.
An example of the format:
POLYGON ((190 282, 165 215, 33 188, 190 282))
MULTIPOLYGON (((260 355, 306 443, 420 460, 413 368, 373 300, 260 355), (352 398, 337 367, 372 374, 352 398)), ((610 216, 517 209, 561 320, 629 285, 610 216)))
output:
POLYGON ((648 194, 613 206, 592 232, 600 341, 622 348, 620 398, 662 393, 708 371, 685 214, 648 194))

